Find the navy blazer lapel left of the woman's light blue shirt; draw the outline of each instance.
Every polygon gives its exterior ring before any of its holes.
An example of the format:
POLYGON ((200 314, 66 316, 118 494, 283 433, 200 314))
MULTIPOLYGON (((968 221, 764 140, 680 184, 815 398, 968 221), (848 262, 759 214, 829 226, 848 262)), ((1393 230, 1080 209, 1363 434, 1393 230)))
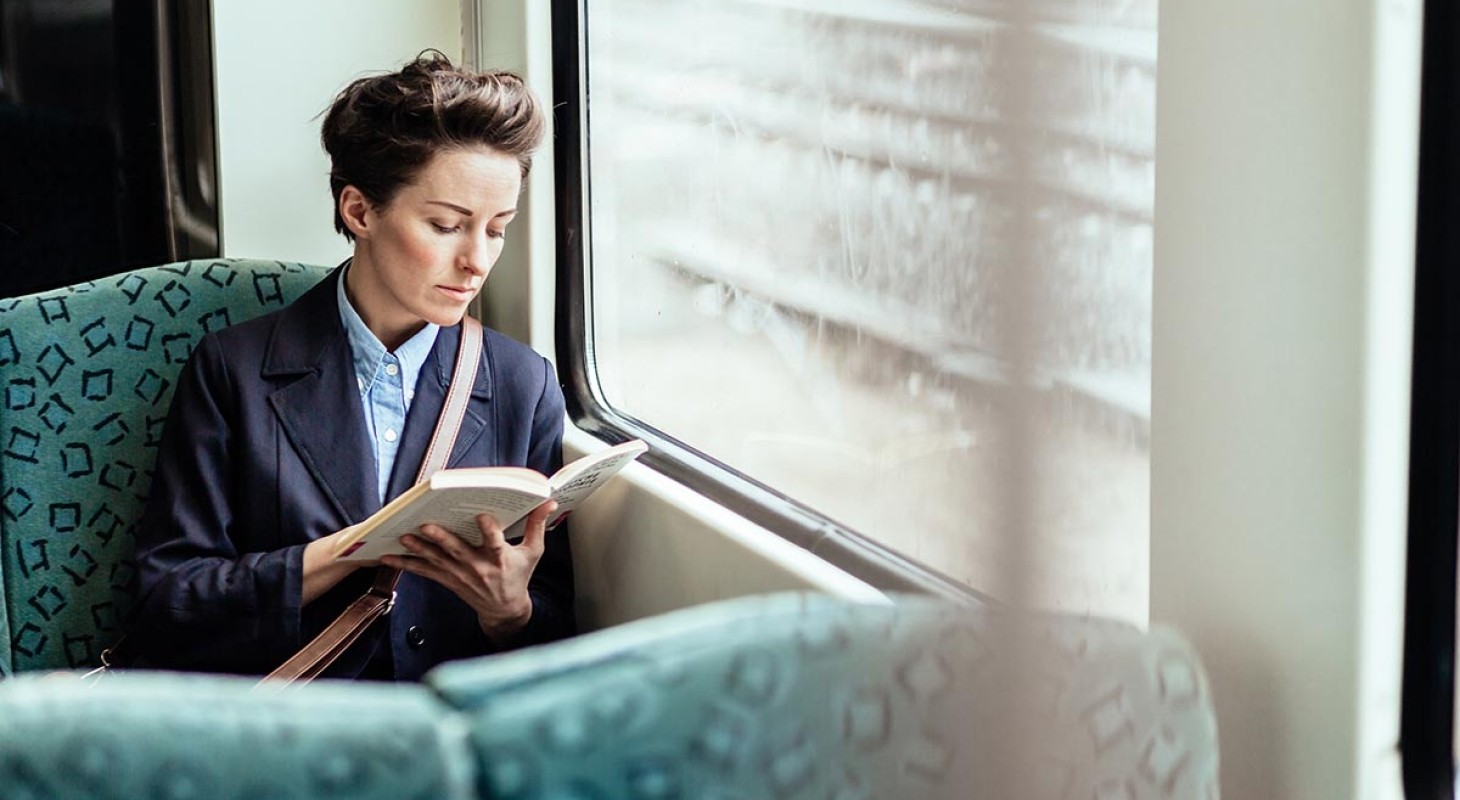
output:
POLYGON ((346 523, 380 509, 375 455, 340 324, 334 292, 340 270, 286 309, 264 358, 269 396, 289 444, 346 523))

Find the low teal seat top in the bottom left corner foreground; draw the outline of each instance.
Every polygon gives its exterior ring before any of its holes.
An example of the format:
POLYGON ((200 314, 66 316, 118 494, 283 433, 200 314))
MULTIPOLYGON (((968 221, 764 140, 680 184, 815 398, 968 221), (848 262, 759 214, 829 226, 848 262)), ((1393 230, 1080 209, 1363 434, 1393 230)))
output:
POLYGON ((456 800, 464 727, 420 686, 123 673, 0 682, 6 800, 456 800))

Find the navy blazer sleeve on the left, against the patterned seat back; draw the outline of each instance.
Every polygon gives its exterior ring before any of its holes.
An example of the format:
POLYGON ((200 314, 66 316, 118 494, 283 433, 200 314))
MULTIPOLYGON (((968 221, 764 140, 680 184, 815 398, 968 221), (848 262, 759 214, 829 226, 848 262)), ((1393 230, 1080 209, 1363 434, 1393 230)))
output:
POLYGON ((299 645, 304 545, 250 552, 235 530, 237 404, 209 334, 178 380, 137 530, 130 631, 149 666, 257 673, 299 645))

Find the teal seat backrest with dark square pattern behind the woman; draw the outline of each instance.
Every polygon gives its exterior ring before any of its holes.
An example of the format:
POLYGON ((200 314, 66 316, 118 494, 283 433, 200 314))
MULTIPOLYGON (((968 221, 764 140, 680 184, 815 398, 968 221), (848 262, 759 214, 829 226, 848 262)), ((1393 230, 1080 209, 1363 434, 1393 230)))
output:
POLYGON ((326 272, 187 261, 0 301, 0 676, 91 666, 117 639, 177 372, 326 272))

